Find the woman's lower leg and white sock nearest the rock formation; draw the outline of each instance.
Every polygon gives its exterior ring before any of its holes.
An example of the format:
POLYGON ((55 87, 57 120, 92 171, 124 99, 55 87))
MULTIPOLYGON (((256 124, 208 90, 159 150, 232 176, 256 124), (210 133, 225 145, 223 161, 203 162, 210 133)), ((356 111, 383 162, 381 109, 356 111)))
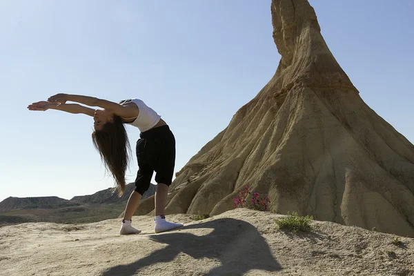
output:
POLYGON ((183 224, 174 224, 165 219, 165 209, 167 204, 168 186, 166 184, 157 184, 155 192, 155 233, 160 233, 183 226, 183 224))

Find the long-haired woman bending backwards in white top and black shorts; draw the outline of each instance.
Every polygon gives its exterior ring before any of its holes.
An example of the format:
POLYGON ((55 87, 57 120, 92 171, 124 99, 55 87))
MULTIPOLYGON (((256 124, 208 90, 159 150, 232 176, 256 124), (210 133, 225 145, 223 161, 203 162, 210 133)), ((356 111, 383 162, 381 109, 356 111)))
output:
POLYGON ((132 215, 137 209, 139 199, 150 186, 155 171, 157 191, 155 193, 155 233, 179 228, 183 224, 166 221, 164 210, 167 201, 168 187, 172 181, 175 166, 175 138, 166 122, 154 110, 139 99, 129 99, 114 103, 95 97, 57 94, 48 101, 38 101, 28 106, 29 110, 46 111, 62 110, 75 114, 93 117, 95 131, 92 141, 101 155, 101 159, 115 179, 119 195, 125 190, 125 173, 128 167, 128 151, 130 145, 124 124, 136 126, 141 131, 141 139, 137 141, 137 160, 139 170, 135 179, 135 190, 132 191, 122 220, 120 235, 137 234, 140 229, 131 226, 132 215), (81 106, 98 106, 93 109, 81 106))

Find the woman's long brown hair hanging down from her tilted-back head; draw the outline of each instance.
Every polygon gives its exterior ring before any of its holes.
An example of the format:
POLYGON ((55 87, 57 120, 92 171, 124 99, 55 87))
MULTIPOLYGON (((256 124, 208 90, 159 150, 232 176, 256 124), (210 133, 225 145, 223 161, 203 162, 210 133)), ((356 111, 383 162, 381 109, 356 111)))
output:
POLYGON ((124 194, 126 181, 125 174, 129 165, 130 143, 121 117, 114 115, 113 123, 106 123, 102 130, 92 133, 93 146, 99 151, 105 168, 115 179, 116 186, 112 192, 118 190, 118 195, 124 194))

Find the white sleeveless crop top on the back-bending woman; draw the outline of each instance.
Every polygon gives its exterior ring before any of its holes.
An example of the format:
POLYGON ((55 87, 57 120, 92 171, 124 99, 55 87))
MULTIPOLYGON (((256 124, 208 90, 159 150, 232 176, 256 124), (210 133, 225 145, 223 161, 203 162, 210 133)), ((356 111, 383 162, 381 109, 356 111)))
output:
MULTIPOLYGON (((132 126, 136 126, 139 128, 139 131, 144 132, 149 130, 150 128, 154 127, 156 124, 158 124, 159 120, 161 119, 161 116, 155 112, 152 108, 148 107, 144 101, 141 101, 140 99, 127 99, 126 101, 121 101, 121 104, 129 103, 129 102, 135 103, 139 108, 139 115, 135 118, 134 121, 126 124, 130 124, 132 126)), ((134 118, 124 118, 124 119, 134 119, 134 118)))

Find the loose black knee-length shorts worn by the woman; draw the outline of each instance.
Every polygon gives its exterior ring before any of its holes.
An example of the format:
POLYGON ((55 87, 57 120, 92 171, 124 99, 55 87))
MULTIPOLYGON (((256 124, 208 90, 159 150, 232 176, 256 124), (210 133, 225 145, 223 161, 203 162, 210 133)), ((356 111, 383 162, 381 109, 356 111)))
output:
POLYGON ((154 171, 155 181, 171 185, 175 166, 175 138, 168 126, 141 132, 137 141, 138 173, 135 191, 144 195, 150 187, 154 171))

